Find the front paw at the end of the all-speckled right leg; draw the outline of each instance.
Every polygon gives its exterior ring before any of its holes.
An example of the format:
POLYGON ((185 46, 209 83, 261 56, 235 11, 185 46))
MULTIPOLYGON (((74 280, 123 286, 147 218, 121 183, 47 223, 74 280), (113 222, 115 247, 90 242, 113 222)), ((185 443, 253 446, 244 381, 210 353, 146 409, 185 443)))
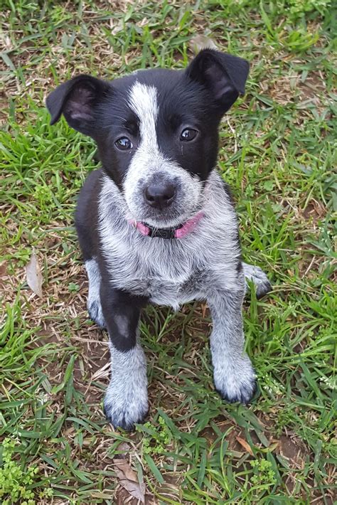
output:
POLYGON ((250 359, 223 363, 223 368, 214 371, 214 385, 228 403, 250 403, 256 391, 256 376, 250 359))

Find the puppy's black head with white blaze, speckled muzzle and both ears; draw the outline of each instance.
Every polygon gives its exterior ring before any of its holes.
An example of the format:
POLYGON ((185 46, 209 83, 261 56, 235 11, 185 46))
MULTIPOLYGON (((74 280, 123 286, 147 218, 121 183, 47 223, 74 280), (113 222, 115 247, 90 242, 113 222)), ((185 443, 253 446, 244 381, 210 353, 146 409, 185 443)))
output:
POLYGON ((218 124, 245 90, 245 60, 203 50, 185 71, 142 70, 112 83, 82 75, 47 98, 97 142, 128 218, 159 228, 183 223, 203 203, 218 154, 218 124))

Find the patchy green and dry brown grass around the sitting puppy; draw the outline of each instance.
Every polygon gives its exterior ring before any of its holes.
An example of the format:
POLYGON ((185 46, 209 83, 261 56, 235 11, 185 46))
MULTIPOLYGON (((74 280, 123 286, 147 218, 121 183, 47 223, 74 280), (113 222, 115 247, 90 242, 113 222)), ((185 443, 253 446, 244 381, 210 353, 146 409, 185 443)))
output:
POLYGON ((0 500, 136 504, 115 464, 125 458, 149 504, 332 504, 333 6, 0 4, 0 500), (65 121, 50 127, 43 100, 80 72, 114 78, 137 68, 183 68, 197 34, 252 63, 247 94, 223 121, 218 167, 235 194, 244 257, 269 272, 274 285, 268 297, 257 301, 252 292, 245 303, 259 391, 248 408, 215 393, 203 304, 178 314, 149 307, 141 323, 149 419, 134 433, 114 431, 102 414, 107 336, 87 319, 73 229, 75 198, 96 166, 95 149, 65 121), (41 299, 26 284, 33 249, 43 273, 41 299))

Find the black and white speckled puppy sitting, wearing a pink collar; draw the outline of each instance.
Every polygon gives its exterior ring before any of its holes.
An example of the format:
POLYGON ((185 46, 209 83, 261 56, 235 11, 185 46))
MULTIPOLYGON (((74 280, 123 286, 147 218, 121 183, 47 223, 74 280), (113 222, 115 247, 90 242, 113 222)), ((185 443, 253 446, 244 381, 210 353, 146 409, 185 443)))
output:
POLYGON ((221 117, 245 92, 247 61, 202 50, 186 70, 141 70, 106 82, 87 75, 47 98, 97 143, 102 169, 85 181, 76 228, 89 279, 90 317, 109 332, 107 418, 132 429, 148 411, 139 316, 148 303, 205 299, 213 318, 215 388, 247 403, 255 372, 243 351, 245 277, 257 295, 266 275, 241 261, 228 188, 215 171, 221 117))

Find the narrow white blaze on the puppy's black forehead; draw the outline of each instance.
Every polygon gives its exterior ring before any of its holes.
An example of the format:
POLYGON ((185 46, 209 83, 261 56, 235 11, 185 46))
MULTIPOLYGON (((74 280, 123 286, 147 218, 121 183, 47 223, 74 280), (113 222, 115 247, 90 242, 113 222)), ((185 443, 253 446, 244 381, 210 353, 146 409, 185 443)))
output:
POLYGON ((156 120, 158 117, 157 91, 153 86, 146 86, 137 81, 129 92, 129 106, 139 118, 141 142, 150 144, 152 149, 156 142, 156 120))

